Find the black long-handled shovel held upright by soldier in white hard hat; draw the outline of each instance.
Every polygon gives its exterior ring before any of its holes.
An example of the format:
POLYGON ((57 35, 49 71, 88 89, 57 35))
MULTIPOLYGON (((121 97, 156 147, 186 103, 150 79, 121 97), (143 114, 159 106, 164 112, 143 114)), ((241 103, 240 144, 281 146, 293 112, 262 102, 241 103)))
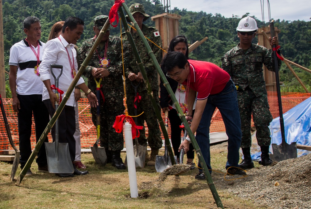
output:
MULTIPOLYGON (((269 26, 270 26, 271 37, 274 37, 273 21, 270 22, 269 26)), ((275 48, 276 46, 273 45, 273 49, 275 48)), ((297 158, 297 145, 296 145, 296 142, 287 144, 285 141, 284 119, 283 119, 283 110, 282 110, 282 102, 281 102, 280 80, 279 80, 279 71, 278 71, 278 66, 277 66, 276 50, 273 50, 273 59, 274 59, 274 66, 275 66, 276 91, 277 91, 277 99, 278 99, 278 104, 279 104, 282 142, 280 145, 272 144, 272 150, 273 150, 274 159, 277 162, 280 162, 286 159, 297 158)))

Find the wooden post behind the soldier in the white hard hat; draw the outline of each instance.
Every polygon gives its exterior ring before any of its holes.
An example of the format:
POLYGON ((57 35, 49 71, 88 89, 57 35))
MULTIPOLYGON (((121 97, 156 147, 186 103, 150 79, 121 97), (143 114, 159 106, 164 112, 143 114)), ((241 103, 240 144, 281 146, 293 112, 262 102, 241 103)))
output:
MULTIPOLYGON (((278 33, 280 30, 277 29, 277 27, 274 27, 275 36, 278 36, 278 33)), ((269 40, 267 40, 263 33, 270 35, 270 27, 263 27, 258 29, 258 45, 262 45, 266 47, 267 49, 272 49, 270 46, 269 40)), ((263 78, 266 82, 266 89, 268 92, 276 92, 276 80, 275 80, 275 73, 272 71, 269 71, 266 66, 263 65, 263 78)))

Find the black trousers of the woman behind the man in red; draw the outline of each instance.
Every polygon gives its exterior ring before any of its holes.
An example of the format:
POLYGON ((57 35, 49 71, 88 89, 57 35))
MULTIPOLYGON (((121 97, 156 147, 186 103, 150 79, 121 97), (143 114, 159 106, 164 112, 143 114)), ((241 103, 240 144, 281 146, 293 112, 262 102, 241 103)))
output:
MULTIPOLYGON (((194 110, 193 110, 194 112, 194 110)), ((169 110, 169 123, 171 125, 171 141, 172 146, 174 150, 174 154, 179 158, 180 152, 178 151, 178 148, 180 146, 180 134, 181 134, 181 128, 179 127, 181 125, 181 120, 178 116, 178 113, 175 109, 169 110)), ((194 158, 194 148, 192 144, 189 144, 189 150, 187 152, 187 158, 193 159, 194 158)))

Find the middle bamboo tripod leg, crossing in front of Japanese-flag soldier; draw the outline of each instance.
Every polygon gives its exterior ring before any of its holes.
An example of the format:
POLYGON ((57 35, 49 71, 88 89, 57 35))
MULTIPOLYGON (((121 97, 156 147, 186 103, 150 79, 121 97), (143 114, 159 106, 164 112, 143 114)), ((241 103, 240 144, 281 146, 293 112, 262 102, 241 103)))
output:
MULTIPOLYGON (((160 110, 158 109, 158 106, 156 104, 156 100, 154 99, 153 97, 153 94, 152 94, 152 90, 151 90, 151 87, 150 87, 150 83, 149 83, 149 79, 147 78, 147 74, 146 74, 146 71, 145 71, 145 68, 144 68, 144 65, 142 64, 142 60, 140 59, 140 56, 138 54, 138 51, 137 51, 137 48, 135 46, 135 43, 134 43, 134 40, 133 40, 133 37, 131 35, 131 33, 129 32, 129 28, 128 28, 128 24, 127 24, 127 21, 126 21, 126 18, 125 18, 125 15, 124 15, 124 12, 122 10, 122 8, 120 7, 119 8, 119 14, 121 16, 121 20, 123 22, 123 27, 124 27, 124 30, 125 30, 125 33, 126 35, 128 36, 128 40, 130 41, 130 44, 132 46, 132 49, 133 49, 133 52, 134 52, 134 55, 137 59, 137 63, 138 64, 138 67, 140 69, 140 72, 142 73, 142 76, 144 78, 144 81, 146 83, 146 86, 147 86, 147 93, 148 93, 148 96, 152 102, 152 106, 154 107, 154 110, 156 112, 156 116, 158 118, 158 121, 159 121, 159 124, 160 124, 160 127, 161 127, 161 130, 163 132, 163 135, 164 135, 164 141, 165 141, 165 147, 169 153, 169 159, 171 160, 171 163, 172 165, 176 164, 175 162, 175 158, 174 158, 174 154, 173 154, 173 151, 172 151, 172 147, 171 147, 171 143, 169 141, 169 135, 166 131, 166 128, 165 128, 165 124, 164 124, 164 121, 163 121, 163 118, 161 116, 161 112, 160 110)), ((136 23, 136 22, 135 22, 136 23)), ((137 24, 137 23, 136 23, 137 24)), ((150 49, 151 50, 151 49, 150 49)), ((152 52, 152 51, 151 51, 152 52)))

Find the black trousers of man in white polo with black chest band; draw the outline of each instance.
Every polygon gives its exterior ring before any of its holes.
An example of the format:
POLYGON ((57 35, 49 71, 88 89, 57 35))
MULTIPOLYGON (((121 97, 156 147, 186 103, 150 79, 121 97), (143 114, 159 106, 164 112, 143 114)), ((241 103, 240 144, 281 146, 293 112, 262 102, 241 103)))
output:
MULTIPOLYGON (((36 142, 38 142, 40 136, 44 132, 45 127, 49 123, 49 113, 44 103, 42 102, 42 95, 17 94, 17 98, 21 105, 21 109, 19 110, 19 113, 17 113, 17 118, 19 149, 21 151, 20 163, 21 169, 23 169, 32 152, 30 144, 32 116, 34 116, 35 120, 36 142)), ((44 141, 48 142, 48 137, 46 137, 44 141)), ((42 143, 42 146, 38 152, 38 158, 36 159, 36 162, 40 167, 48 164, 44 143, 42 143)))

